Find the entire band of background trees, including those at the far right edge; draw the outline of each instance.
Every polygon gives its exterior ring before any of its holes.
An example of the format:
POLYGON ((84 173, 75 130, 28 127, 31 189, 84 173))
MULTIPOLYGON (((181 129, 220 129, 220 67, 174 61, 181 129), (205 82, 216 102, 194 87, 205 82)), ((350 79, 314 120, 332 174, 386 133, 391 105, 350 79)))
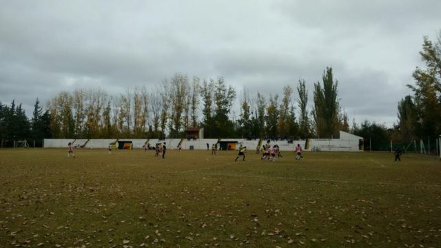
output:
POLYGON ((199 126, 205 138, 338 138, 342 130, 374 138, 373 149, 382 149, 391 139, 435 141, 441 133, 441 33, 437 38, 424 37, 420 55, 425 67, 413 72, 415 84, 408 85, 413 95, 398 103, 392 128, 369 121, 350 127, 340 107, 338 81, 332 68, 326 68, 321 82, 314 83, 311 110, 304 79, 285 85, 279 96, 247 90, 238 94, 223 77, 176 73, 160 87, 136 87, 116 96, 102 89, 59 92, 45 110, 37 99, 30 119, 21 104, 0 102, 1 138, 184 138, 187 127, 199 126), (238 114, 232 112, 235 103, 238 114))

